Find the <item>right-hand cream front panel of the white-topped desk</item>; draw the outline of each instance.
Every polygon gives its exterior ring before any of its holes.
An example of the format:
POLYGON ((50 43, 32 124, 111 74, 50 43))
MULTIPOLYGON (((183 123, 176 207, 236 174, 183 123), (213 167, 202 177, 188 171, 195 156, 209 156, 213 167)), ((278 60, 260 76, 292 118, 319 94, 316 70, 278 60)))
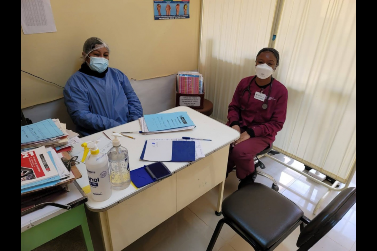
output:
POLYGON ((229 146, 177 173, 177 211, 225 180, 229 146))

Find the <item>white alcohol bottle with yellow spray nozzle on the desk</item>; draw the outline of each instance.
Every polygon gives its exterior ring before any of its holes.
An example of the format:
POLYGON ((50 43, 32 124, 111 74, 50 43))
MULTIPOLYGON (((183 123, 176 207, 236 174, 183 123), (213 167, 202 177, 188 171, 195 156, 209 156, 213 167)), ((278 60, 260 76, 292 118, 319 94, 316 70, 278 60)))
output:
POLYGON ((85 160, 88 173, 92 198, 95 201, 106 201, 112 195, 110 181, 109 162, 106 154, 100 154, 98 149, 99 141, 91 141, 81 145, 84 150, 83 162, 85 160), (90 149, 90 156, 87 157, 90 149))

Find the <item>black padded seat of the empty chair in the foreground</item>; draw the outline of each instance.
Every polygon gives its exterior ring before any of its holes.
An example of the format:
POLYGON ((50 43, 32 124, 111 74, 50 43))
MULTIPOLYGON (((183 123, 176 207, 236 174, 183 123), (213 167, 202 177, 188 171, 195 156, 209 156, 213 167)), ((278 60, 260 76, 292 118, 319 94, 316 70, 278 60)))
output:
POLYGON ((225 199, 222 212, 263 249, 282 239, 304 215, 289 199, 259 183, 250 184, 225 199))

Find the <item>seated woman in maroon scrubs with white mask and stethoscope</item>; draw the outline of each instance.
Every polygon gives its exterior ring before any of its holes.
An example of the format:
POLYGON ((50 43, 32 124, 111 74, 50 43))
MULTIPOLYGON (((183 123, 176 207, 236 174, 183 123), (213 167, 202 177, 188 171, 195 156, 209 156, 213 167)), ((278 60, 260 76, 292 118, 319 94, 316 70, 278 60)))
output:
POLYGON ((280 56, 272 48, 262 49, 256 60, 256 76, 242 79, 228 110, 228 126, 241 138, 231 146, 228 173, 236 167, 239 189, 254 183, 254 157, 269 148, 287 117, 288 90, 272 77, 280 56))

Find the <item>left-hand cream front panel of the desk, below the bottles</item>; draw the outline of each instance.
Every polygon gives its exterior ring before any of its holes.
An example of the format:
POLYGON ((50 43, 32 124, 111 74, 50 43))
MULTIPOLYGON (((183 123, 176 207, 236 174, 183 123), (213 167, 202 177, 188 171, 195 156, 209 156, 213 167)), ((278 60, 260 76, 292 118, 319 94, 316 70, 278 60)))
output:
POLYGON ((173 216, 177 210, 177 175, 107 211, 114 251, 121 251, 173 216))

